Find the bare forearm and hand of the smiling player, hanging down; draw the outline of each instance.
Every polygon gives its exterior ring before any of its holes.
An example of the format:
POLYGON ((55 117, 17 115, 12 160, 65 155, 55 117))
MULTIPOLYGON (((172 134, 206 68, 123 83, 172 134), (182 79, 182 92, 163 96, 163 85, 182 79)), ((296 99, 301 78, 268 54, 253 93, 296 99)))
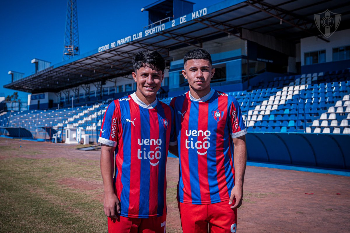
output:
POLYGON ((103 201, 103 209, 107 217, 118 218, 117 212, 120 214, 120 202, 113 189, 113 172, 114 172, 114 151, 116 147, 102 144, 100 168, 103 179, 103 189, 105 197, 103 201))

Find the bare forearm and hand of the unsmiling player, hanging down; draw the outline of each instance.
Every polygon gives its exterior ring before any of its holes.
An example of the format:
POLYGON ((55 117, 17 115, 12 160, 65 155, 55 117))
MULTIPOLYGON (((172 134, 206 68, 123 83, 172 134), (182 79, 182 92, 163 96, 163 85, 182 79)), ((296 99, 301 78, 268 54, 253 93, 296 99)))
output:
POLYGON ((247 163, 247 148, 245 142, 245 135, 232 138, 235 150, 233 152, 233 162, 235 165, 235 186, 231 190, 229 205, 235 200, 235 204, 231 206, 232 209, 238 208, 243 202, 243 182, 244 173, 247 163))

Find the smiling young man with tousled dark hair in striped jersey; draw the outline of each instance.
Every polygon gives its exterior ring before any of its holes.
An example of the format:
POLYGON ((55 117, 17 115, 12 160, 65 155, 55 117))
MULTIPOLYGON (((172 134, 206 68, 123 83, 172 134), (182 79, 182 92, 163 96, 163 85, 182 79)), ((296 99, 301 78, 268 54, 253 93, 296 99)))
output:
POLYGON ((142 50, 133 66, 137 90, 109 104, 98 139, 104 212, 110 233, 163 233, 165 171, 174 117, 173 110, 156 98, 165 60, 154 50, 142 50))

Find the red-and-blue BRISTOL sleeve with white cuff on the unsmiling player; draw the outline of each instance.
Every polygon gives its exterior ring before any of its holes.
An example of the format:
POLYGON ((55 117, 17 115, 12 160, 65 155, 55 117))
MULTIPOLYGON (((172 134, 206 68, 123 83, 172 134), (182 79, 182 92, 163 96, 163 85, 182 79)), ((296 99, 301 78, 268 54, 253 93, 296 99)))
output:
POLYGON ((247 133, 247 129, 245 127, 242 112, 240 110, 238 101, 233 98, 231 107, 230 107, 230 134, 232 138, 238 138, 247 133))

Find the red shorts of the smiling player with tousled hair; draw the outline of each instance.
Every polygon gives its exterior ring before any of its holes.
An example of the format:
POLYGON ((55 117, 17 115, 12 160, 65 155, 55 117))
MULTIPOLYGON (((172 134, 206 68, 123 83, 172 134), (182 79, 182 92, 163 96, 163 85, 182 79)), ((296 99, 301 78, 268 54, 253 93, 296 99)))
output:
POLYGON ((108 218, 109 233, 165 233, 167 214, 151 218, 127 218, 118 216, 118 219, 108 218))

